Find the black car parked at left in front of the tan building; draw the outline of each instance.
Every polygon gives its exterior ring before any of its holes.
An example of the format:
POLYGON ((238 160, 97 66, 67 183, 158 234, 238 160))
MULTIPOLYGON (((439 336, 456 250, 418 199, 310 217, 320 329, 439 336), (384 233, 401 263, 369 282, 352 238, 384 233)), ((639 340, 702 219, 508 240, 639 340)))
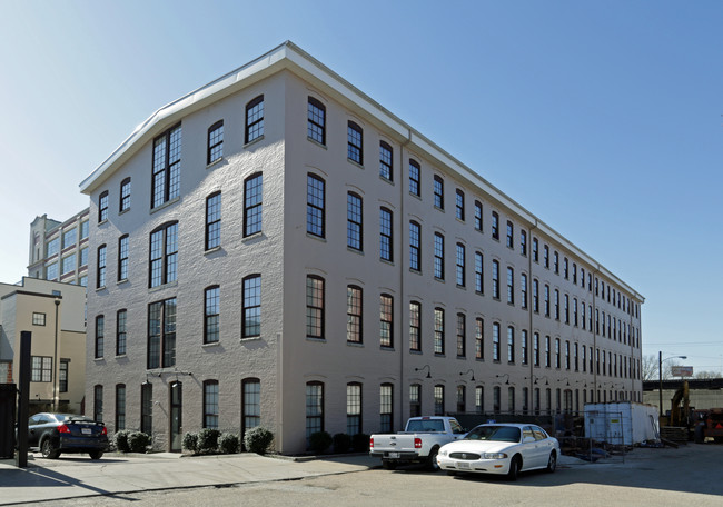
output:
POLYGON ((56 459, 61 453, 88 453, 100 459, 108 447, 108 429, 73 414, 36 414, 28 419, 28 446, 40 448, 43 458, 56 459))

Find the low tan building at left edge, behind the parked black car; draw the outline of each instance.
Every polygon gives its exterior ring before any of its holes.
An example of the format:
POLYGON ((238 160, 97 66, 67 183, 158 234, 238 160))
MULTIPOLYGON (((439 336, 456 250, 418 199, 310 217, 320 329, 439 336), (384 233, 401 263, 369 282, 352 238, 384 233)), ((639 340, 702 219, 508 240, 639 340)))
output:
POLYGON ((85 397, 85 288, 23 277, 0 284, 0 379, 19 384, 20 332, 31 332, 31 414, 81 414, 85 397))

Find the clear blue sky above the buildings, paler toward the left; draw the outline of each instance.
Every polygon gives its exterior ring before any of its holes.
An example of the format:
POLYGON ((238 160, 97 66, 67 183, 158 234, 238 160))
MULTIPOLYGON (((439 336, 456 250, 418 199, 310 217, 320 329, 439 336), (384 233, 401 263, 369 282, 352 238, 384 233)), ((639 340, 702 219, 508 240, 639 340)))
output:
POLYGON ((723 2, 0 0, 0 281, 156 109, 290 39, 646 297, 723 368, 723 2))

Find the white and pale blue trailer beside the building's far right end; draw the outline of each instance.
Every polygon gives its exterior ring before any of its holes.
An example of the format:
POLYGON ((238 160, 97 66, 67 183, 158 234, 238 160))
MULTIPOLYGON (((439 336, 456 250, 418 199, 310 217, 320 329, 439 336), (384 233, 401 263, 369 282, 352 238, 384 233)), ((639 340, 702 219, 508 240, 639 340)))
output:
POLYGON ((585 437, 625 446, 660 440, 657 407, 632 401, 585 404, 585 437))

